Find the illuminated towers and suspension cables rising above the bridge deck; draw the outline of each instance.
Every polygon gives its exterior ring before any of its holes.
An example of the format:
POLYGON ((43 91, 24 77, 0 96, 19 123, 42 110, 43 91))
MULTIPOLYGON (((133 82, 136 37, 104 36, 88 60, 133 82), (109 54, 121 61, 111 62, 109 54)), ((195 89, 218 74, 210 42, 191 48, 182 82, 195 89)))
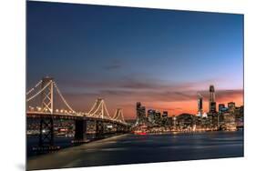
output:
MULTIPOLYGON (((67 104, 67 100, 62 96, 60 90, 58 89, 56 82, 53 80, 53 78, 50 77, 45 77, 42 80, 40 80, 36 86, 31 88, 27 93, 26 93, 26 103, 32 101, 33 99, 36 98, 36 96, 39 95, 45 95, 45 98, 43 98, 42 102, 40 103, 43 104, 43 106, 29 106, 28 111, 34 111, 36 109, 37 112, 42 112, 42 114, 45 113, 51 113, 53 114, 54 112, 54 106, 53 106, 53 98, 55 95, 60 96, 61 100, 64 102, 64 104, 67 106, 67 109, 61 108, 61 109, 56 109, 55 112, 57 113, 56 115, 63 115, 65 114, 66 116, 87 116, 87 117, 92 117, 92 118, 100 118, 104 120, 112 120, 121 124, 126 124, 123 114, 122 114, 122 109, 118 108, 118 113, 116 113, 114 116, 110 116, 108 113, 107 106, 104 102, 104 98, 97 98, 96 102, 94 105, 91 107, 91 110, 88 112, 76 112, 67 104), (39 85, 42 85, 41 88, 37 88, 39 85), (53 91, 56 90, 57 94, 53 94, 53 91), (37 92, 36 92, 37 91, 37 92), (34 93, 32 95, 32 92, 34 93), (29 97, 30 95, 30 97, 29 97), (32 95, 32 96, 31 96, 32 95), (51 96, 52 95, 52 96, 51 96)), ((54 115, 54 114, 53 114, 54 115)))

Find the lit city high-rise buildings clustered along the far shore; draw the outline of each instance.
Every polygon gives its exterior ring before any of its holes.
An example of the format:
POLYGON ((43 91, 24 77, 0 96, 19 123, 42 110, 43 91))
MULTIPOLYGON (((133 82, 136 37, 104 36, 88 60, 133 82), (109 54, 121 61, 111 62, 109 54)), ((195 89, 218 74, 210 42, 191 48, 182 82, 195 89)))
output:
POLYGON ((168 111, 148 109, 137 103, 137 119, 135 127, 147 127, 147 130, 159 131, 208 131, 237 130, 243 127, 243 106, 234 102, 227 105, 218 104, 215 99, 215 89, 210 85, 209 111, 203 111, 203 96, 198 95, 198 114, 180 114, 168 116, 168 111))

